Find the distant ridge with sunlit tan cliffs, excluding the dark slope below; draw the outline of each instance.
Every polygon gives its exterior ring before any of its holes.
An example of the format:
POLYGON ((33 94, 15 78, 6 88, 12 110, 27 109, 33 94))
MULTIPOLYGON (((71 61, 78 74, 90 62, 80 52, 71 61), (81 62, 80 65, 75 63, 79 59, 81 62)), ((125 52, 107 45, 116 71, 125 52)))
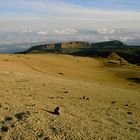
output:
POLYGON ((89 43, 82 41, 71 41, 71 42, 61 42, 61 43, 49 43, 32 46, 23 53, 39 53, 39 52, 49 52, 52 51, 63 51, 63 49, 80 49, 80 48, 89 48, 89 47, 123 47, 126 46, 118 40, 99 42, 99 43, 89 43))

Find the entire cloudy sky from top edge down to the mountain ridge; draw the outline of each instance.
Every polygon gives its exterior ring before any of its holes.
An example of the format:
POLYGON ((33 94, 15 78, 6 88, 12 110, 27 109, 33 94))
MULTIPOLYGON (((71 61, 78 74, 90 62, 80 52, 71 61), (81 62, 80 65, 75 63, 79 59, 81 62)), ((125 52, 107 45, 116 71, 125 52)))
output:
POLYGON ((0 51, 67 40, 140 44, 139 25, 140 0, 0 0, 0 51))

